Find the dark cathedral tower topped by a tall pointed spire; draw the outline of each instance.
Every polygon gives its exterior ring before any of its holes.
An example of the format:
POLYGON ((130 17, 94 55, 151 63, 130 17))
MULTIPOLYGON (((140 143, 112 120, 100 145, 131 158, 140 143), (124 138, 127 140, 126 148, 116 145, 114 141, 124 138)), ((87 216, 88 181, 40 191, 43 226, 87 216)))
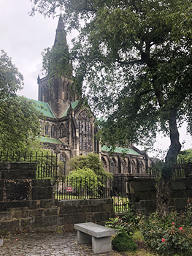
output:
POLYGON ((77 100, 72 86, 72 65, 69 61, 69 49, 66 43, 66 31, 60 16, 55 34, 55 42, 50 53, 48 75, 40 79, 39 101, 47 102, 56 118, 61 118, 70 103, 77 100))

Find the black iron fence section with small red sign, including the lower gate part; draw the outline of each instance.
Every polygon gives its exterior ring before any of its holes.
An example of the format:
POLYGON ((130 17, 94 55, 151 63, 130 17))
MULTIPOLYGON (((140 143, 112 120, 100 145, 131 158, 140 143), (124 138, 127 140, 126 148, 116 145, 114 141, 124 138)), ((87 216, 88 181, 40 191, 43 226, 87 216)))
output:
POLYGON ((58 178, 55 199, 93 199, 113 198, 115 213, 125 212, 128 208, 126 178, 58 178))

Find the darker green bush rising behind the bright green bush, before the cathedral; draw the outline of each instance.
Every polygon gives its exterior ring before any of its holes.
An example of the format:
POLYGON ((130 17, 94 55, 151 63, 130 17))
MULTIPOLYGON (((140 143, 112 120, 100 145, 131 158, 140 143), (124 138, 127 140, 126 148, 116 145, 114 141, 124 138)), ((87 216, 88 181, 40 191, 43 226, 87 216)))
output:
POLYGON ((67 165, 69 165, 69 171, 88 168, 93 170, 96 176, 112 177, 110 173, 104 170, 103 164, 99 159, 99 154, 89 153, 87 156, 73 157, 67 162, 67 165))

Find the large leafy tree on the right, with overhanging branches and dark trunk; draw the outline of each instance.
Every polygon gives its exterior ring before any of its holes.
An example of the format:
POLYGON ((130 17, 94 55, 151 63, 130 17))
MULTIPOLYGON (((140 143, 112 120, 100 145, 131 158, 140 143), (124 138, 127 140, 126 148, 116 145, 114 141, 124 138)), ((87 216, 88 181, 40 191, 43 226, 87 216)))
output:
POLYGON ((192 134, 191 1, 31 1, 32 14, 54 15, 64 5, 69 29, 80 31, 72 49, 78 60, 75 81, 89 85, 89 102, 103 113, 101 143, 150 145, 157 132, 169 135, 157 192, 164 217, 183 121, 192 134))

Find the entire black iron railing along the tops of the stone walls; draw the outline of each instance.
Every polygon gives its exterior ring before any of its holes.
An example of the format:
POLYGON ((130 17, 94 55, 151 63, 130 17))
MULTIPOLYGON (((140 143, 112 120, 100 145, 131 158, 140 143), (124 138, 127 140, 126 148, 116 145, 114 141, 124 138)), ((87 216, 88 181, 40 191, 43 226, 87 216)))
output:
MULTIPOLYGON (((126 176, 107 178, 73 178, 57 176, 57 155, 50 151, 39 152, 4 152, 0 151, 0 162, 37 162, 37 178, 53 178, 55 180, 55 199, 92 199, 113 198, 115 213, 123 213, 128 209, 128 192, 126 176)), ((173 170, 173 178, 187 177, 187 164, 177 162, 173 170)), ((158 178, 155 170, 150 171, 150 178, 158 178)))

